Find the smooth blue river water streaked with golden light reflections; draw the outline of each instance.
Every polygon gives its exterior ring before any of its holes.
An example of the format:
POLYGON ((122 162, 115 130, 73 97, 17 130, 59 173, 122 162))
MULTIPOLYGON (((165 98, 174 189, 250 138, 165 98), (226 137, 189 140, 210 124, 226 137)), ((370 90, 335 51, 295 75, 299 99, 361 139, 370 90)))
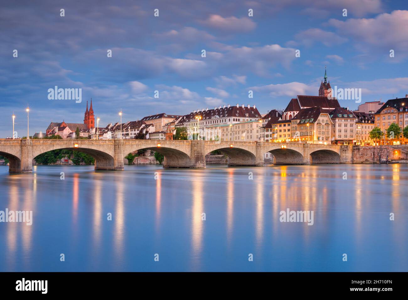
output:
POLYGON ((32 210, 33 225, 0 223, 0 271, 408 271, 407 171, 1 167, 0 210, 32 210), (313 226, 279 222, 287 208, 314 211, 313 226))

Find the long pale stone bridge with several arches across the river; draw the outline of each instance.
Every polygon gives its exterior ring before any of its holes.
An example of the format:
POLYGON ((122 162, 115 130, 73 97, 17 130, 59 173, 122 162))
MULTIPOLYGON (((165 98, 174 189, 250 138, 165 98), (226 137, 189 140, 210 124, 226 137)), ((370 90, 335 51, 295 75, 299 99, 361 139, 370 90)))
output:
POLYGON ((229 166, 262 166, 264 154, 275 164, 351 163, 353 146, 307 143, 220 142, 204 140, 0 140, 0 155, 9 159, 11 173, 32 172, 41 153, 69 149, 95 158, 96 170, 123 170, 124 157, 148 149, 164 155, 163 167, 205 168, 205 155, 219 150, 229 166))

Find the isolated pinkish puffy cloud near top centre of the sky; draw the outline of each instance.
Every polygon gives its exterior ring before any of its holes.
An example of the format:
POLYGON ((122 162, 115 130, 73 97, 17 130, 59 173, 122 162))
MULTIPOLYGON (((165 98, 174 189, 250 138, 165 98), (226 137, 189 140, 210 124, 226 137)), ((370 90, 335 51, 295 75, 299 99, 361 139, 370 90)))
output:
POLYGON ((220 15, 210 15, 207 20, 202 21, 207 27, 225 31, 228 33, 248 32, 255 29, 256 24, 249 18, 227 17, 220 15))

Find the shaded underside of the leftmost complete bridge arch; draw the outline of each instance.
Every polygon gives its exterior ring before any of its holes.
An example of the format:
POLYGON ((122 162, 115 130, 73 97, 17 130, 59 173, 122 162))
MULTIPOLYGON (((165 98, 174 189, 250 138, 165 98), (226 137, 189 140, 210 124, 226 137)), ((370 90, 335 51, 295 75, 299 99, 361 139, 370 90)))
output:
MULTIPOLYGON (((99 150, 95 150, 95 149, 87 149, 87 148, 60 148, 60 149, 54 149, 54 150, 50 150, 50 151, 45 151, 45 152, 41 152, 41 153, 33 153, 33 155, 35 155, 34 160, 44 153, 49 153, 51 151, 54 151, 53 154, 55 155, 55 150, 57 151, 62 151, 63 150, 71 150, 71 151, 78 151, 78 152, 82 152, 85 154, 88 154, 89 156, 91 156, 95 162, 95 170, 122 170, 123 169, 123 163, 121 164, 116 164, 115 165, 115 160, 113 158, 113 156, 109 155, 108 153, 105 153, 103 151, 99 151, 99 150)), ((81 158, 77 158, 77 159, 81 159, 81 158)), ((84 158, 86 160, 86 164, 91 164, 91 162, 87 159, 84 158)), ((50 158, 50 160, 52 160, 52 158, 50 158)))

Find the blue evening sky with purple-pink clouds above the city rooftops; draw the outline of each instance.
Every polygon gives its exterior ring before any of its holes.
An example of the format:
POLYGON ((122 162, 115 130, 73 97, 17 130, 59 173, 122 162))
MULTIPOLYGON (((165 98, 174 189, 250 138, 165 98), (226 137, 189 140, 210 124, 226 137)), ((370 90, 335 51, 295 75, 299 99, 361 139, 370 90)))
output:
POLYGON ((122 122, 227 104, 263 114, 317 96, 325 67, 361 103, 402 98, 407 28, 405 0, 0 0, 0 138, 13 113, 27 135, 27 105, 33 135, 82 123, 91 98, 100 126, 121 109, 122 122), (81 89, 82 102, 49 99, 55 86, 81 89))

